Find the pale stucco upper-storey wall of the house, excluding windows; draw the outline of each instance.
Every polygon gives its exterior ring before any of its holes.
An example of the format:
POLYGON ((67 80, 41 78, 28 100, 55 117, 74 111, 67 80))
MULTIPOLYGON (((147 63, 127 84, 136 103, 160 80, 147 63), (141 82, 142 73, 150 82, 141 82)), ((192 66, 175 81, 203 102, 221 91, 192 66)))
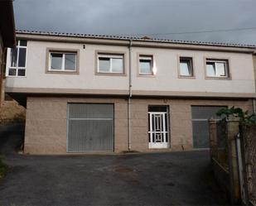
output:
MULTIPOLYGON (((22 37, 22 36, 21 36, 22 37)), ((202 48, 203 49, 203 48, 202 48)), ((79 89, 81 93, 94 93, 100 90, 113 94, 128 93, 129 68, 132 68, 131 79, 133 93, 244 93, 250 96, 255 93, 254 65, 252 53, 223 50, 190 50, 176 48, 156 48, 133 46, 131 48, 131 67, 129 66, 128 46, 83 44, 56 41, 27 41, 27 75, 26 77, 7 77, 7 92, 12 89, 79 89), (85 47, 84 47, 85 46, 85 47), (79 51, 77 62, 79 71, 75 74, 46 72, 49 54, 47 50, 79 51), (125 54, 125 71, 121 75, 96 74, 97 53, 125 54), (48 55, 47 55, 48 54, 48 55), (138 55, 152 55, 156 74, 141 76, 138 74, 138 55), (179 57, 193 58, 194 78, 178 78, 179 57), (209 79, 205 76, 205 58, 229 60, 229 79, 209 79), (114 83, 114 84, 113 84, 114 83), (118 85, 118 87, 116 86, 118 85)), ((35 91, 35 93, 37 93, 35 91)), ((22 92, 22 90, 21 90, 22 92)))

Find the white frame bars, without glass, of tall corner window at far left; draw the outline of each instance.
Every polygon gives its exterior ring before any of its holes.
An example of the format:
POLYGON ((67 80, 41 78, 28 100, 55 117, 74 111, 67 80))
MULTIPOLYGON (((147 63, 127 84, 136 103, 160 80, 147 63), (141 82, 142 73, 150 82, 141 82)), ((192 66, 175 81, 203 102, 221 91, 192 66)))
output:
POLYGON ((16 66, 11 66, 11 50, 12 48, 7 49, 7 65, 6 65, 6 73, 5 75, 7 77, 27 77, 27 46, 20 46, 21 40, 17 41, 17 62, 16 66), (19 55, 20 55, 20 48, 25 48, 26 49, 26 60, 25 60, 25 67, 18 66, 19 63, 19 55), (16 74, 15 75, 9 75, 9 69, 16 69, 16 74), (21 76, 18 75, 18 69, 25 69, 25 75, 21 76))

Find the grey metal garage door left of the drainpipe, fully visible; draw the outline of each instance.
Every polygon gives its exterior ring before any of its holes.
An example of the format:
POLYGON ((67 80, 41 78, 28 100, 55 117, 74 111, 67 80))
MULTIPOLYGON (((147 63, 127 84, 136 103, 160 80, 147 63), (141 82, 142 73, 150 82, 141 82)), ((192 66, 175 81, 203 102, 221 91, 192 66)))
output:
POLYGON ((114 105, 68 104, 68 152, 114 150, 114 105))

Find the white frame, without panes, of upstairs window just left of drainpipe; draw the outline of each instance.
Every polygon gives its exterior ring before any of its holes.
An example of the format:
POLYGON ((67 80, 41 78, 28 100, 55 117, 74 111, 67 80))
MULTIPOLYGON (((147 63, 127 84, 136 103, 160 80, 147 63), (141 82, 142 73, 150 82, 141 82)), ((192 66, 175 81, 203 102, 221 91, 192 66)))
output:
POLYGON ((97 55, 97 73, 98 74, 124 74, 124 55, 123 54, 98 54, 97 55), (109 71, 100 71, 99 70, 99 58, 109 58, 109 71), (113 71, 112 61, 113 59, 122 59, 123 60, 123 71, 122 72, 115 72, 113 71))

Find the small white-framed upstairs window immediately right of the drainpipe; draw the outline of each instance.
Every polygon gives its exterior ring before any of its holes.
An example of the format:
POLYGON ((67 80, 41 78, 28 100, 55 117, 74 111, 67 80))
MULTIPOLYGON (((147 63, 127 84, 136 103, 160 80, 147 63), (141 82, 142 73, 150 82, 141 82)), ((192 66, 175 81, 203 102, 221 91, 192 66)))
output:
POLYGON ((139 55, 139 74, 153 75, 153 57, 152 55, 139 55))

